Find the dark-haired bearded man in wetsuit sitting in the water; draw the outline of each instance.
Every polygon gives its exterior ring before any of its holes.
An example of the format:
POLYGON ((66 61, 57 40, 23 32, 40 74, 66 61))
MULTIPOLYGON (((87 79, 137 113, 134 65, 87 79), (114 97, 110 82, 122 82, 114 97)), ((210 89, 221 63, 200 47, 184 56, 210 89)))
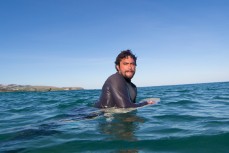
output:
POLYGON ((136 71, 137 57, 130 51, 124 50, 115 61, 117 72, 111 75, 103 85, 98 108, 132 108, 154 104, 154 101, 136 103, 137 88, 131 82, 136 71))

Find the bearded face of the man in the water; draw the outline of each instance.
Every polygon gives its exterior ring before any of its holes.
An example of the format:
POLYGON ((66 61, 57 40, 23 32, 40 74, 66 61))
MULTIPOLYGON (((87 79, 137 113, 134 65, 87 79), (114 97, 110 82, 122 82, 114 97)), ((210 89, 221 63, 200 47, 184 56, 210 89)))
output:
POLYGON ((136 63, 133 58, 128 56, 127 58, 123 58, 120 61, 120 65, 117 65, 116 68, 124 78, 132 79, 135 74, 136 63))

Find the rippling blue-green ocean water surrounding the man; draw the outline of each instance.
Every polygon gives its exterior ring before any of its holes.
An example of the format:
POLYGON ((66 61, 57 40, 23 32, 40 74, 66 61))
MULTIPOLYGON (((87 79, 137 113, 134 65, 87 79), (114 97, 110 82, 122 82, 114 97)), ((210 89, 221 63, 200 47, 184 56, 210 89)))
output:
POLYGON ((229 82, 138 88, 158 104, 93 107, 101 90, 0 93, 0 152, 229 152, 229 82))

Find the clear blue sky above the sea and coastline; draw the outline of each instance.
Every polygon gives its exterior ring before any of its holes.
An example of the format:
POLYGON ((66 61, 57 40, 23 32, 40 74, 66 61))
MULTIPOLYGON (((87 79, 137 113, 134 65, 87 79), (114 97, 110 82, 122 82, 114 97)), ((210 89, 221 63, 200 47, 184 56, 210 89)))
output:
POLYGON ((133 82, 229 81, 228 0, 1 0, 0 84, 101 89, 120 51, 133 82))

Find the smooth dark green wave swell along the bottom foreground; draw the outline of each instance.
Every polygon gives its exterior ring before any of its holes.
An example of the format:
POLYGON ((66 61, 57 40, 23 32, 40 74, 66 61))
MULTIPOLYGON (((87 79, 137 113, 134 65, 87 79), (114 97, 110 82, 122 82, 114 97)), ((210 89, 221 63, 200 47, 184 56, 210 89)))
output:
MULTIPOLYGON (((26 152, 228 152, 229 133, 148 140, 70 140, 26 152)), ((20 150, 20 149, 18 149, 20 150)), ((23 148, 21 148, 23 150, 23 148)))

